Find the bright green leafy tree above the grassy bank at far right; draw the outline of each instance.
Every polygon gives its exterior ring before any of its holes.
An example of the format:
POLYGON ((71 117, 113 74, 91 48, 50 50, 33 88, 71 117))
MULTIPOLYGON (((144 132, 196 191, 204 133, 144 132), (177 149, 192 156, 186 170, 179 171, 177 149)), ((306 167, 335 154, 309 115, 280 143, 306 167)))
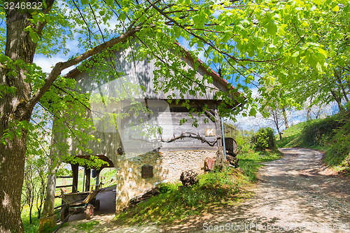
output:
POLYGON ((317 52, 308 49, 302 52, 302 61, 308 60, 311 66, 298 64, 300 60, 295 56, 299 57, 300 52, 290 53, 288 65, 274 66, 281 71, 275 77, 283 85, 286 96, 299 105, 307 104, 309 113, 312 106, 322 106, 333 101, 337 103, 339 111, 344 112, 346 103, 349 103, 349 7, 346 1, 332 3, 331 8, 325 11, 326 17, 314 18, 320 21, 305 22, 302 27, 293 28, 304 48, 312 45, 311 41, 321 45, 317 52), (325 66, 319 63, 319 57, 324 57, 325 66))

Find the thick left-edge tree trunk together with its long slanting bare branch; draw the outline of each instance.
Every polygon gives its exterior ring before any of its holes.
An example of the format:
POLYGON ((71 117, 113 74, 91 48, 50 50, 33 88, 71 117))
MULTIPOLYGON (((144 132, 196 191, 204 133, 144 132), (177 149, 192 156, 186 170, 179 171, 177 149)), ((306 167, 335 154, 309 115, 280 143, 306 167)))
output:
MULTIPOLYGON (((27 0, 36 2, 36 0, 27 0)), ((15 0, 15 3, 19 0, 15 0)), ((48 13, 55 0, 47 0, 47 8, 43 9, 43 13, 48 13)), ((38 36, 46 22, 38 22, 35 26, 31 25, 29 19, 31 15, 25 10, 17 8, 6 10, 6 48, 5 55, 11 61, 21 60, 25 64, 32 64, 36 50, 36 44, 31 41, 29 31, 25 29, 33 26, 38 36)), ((133 36, 143 27, 137 26, 121 34, 110 41, 106 41, 97 45, 93 50, 88 50, 78 57, 67 60, 66 62, 58 62, 52 71, 48 74, 43 86, 31 97, 31 86, 25 79, 25 68, 15 66, 16 73, 13 71, 11 64, 5 66, 0 64, 0 85, 5 87, 15 87, 14 93, 3 92, 0 98, 0 135, 1 139, 6 132, 13 132, 14 123, 20 121, 29 122, 31 111, 39 99, 48 91, 52 83, 63 69, 76 65, 83 60, 96 55, 98 52, 110 48, 116 43, 125 41, 133 36), (29 99, 30 98, 30 99, 29 99), (10 131, 8 131, 10 129, 10 131)), ((0 232, 12 233, 23 232, 22 220, 20 218, 20 199, 23 185, 23 176, 25 168, 25 151, 27 143, 27 129, 19 129, 16 133, 20 133, 18 138, 4 139, 6 143, 0 142, 0 232)))

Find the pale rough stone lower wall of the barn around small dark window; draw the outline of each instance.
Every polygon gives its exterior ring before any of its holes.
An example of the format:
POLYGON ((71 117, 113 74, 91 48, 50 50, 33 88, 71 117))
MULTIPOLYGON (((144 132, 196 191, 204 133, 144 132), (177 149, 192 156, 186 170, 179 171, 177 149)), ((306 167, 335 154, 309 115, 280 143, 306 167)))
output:
POLYGON ((142 194, 161 182, 179 181, 183 171, 192 169, 204 173, 204 160, 216 158, 216 150, 186 150, 150 152, 144 155, 118 155, 116 211, 127 205, 132 197, 142 194), (141 167, 153 166, 153 178, 141 178, 141 167))

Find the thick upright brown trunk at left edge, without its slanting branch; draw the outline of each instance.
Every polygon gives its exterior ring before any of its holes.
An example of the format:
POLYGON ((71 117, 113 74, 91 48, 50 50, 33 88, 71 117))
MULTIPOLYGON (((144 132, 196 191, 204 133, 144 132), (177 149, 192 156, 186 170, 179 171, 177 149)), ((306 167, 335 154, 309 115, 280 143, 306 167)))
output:
MULTIPOLYGON (((5 55, 12 61, 22 59, 26 64, 32 63, 36 45, 31 41, 28 32, 30 15, 8 10, 6 20, 5 55)), ((13 132, 16 127, 10 127, 14 122, 29 121, 32 109, 25 109, 29 100, 31 88, 25 82, 25 70, 15 67, 15 76, 8 74, 10 69, 1 64, 0 85, 15 87, 15 93, 3 93, 0 99, 0 135, 13 132)), ((27 129, 18 129, 21 136, 5 139, 6 145, 0 143, 0 232, 24 232, 20 218, 20 201, 25 169, 25 150, 27 129)))

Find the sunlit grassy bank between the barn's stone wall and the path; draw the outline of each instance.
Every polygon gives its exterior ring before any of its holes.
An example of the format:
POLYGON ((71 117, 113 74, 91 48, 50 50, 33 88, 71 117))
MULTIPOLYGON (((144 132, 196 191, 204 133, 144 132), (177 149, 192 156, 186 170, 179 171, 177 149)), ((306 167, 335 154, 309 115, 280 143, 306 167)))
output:
POLYGON ((123 225, 172 223, 220 206, 235 205, 251 196, 246 188, 256 180, 258 169, 263 163, 280 156, 276 150, 254 152, 248 149, 239 155, 239 169, 228 168, 223 172, 203 174, 199 183, 182 188, 181 191, 181 183, 165 184, 160 195, 120 213, 115 220, 123 225))

